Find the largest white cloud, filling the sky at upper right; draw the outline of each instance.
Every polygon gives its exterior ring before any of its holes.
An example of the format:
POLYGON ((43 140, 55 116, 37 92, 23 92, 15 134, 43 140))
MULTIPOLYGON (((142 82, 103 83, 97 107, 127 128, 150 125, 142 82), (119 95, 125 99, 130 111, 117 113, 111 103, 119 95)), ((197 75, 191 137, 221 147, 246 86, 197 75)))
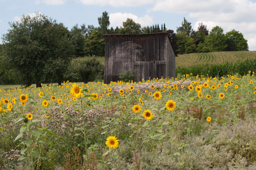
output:
MULTIPOLYGON (((158 0, 150 11, 188 14, 196 18, 193 29, 203 22, 209 31, 216 25, 224 33, 235 29, 248 40, 250 50, 256 50, 256 3, 250 0, 158 0)), ((186 18, 188 21, 189 19, 186 18)))

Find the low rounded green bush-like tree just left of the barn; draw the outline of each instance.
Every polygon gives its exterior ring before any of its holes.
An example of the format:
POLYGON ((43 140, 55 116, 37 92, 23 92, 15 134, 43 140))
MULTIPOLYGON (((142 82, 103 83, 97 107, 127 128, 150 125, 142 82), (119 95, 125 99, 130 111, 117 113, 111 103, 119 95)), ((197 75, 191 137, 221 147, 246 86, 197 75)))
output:
POLYGON ((65 76, 68 80, 74 80, 76 82, 82 80, 84 83, 97 79, 102 80, 104 66, 95 56, 79 57, 71 60, 65 76))

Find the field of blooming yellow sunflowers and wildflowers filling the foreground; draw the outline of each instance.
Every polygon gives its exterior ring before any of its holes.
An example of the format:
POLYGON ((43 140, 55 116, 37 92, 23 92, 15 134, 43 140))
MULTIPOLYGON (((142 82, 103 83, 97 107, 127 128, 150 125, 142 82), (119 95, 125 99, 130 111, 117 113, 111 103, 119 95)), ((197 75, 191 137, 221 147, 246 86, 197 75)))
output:
POLYGON ((0 169, 256 169, 256 78, 0 87, 0 169))

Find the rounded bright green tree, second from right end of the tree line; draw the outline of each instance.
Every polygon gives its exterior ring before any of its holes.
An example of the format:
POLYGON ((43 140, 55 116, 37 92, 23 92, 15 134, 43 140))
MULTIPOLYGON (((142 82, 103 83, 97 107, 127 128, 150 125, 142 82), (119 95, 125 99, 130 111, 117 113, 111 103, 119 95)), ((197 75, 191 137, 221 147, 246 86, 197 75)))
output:
POLYGON ((205 43, 211 52, 225 51, 227 44, 226 36, 223 33, 222 27, 213 27, 212 31, 210 31, 210 34, 206 37, 205 43))

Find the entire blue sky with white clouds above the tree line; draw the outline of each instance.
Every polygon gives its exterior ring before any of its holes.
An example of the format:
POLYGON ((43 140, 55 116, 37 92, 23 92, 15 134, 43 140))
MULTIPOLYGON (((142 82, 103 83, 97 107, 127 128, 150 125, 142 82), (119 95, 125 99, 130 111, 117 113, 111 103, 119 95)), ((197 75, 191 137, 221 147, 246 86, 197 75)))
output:
POLYGON ((224 33, 235 29, 248 40, 249 50, 256 51, 256 0, 0 0, 0 43, 9 23, 23 15, 40 12, 70 30, 76 24, 98 27, 104 11, 113 28, 132 18, 142 27, 165 23, 176 32, 186 18, 194 30, 201 22, 209 32, 215 26, 224 33))

